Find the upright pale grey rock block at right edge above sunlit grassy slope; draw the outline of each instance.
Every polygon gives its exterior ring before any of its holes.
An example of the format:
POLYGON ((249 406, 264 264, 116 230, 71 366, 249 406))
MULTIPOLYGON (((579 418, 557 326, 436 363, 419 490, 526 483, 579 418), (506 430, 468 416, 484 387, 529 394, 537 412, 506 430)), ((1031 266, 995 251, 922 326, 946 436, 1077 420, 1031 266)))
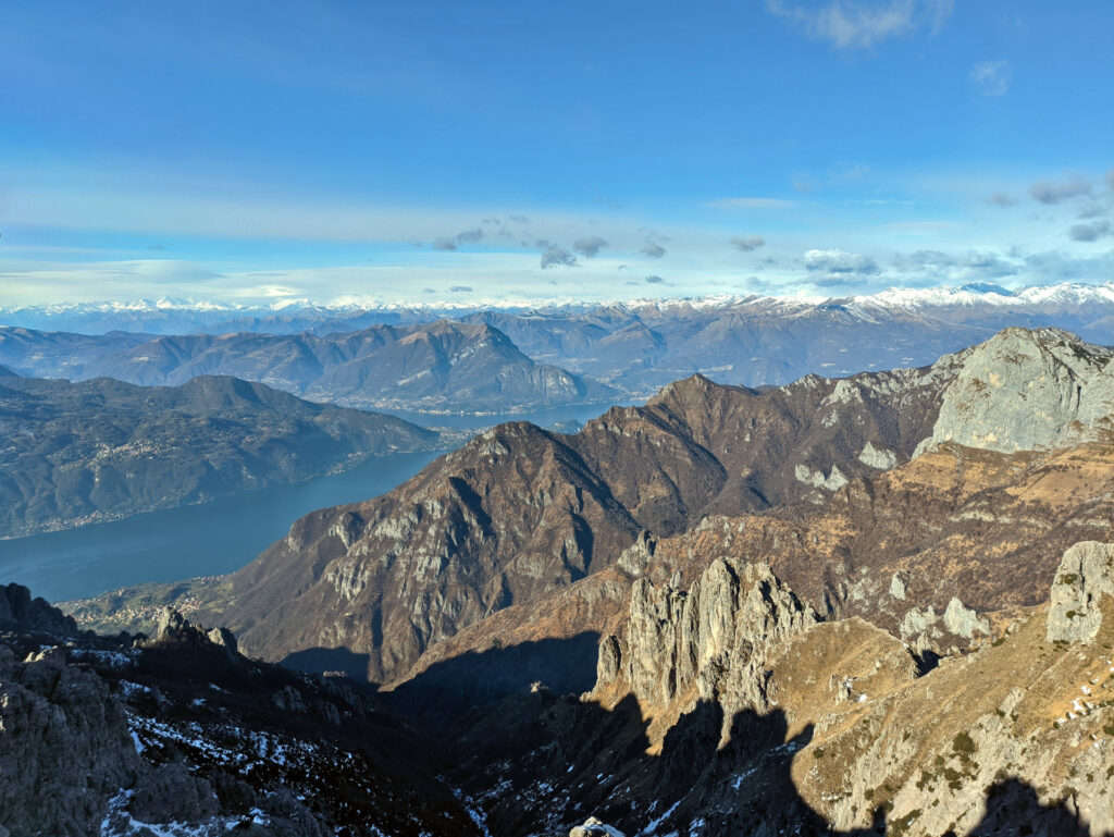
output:
POLYGON ((1114 596, 1114 544, 1084 541, 1064 553, 1052 584, 1049 642, 1087 642, 1103 623, 1101 601, 1114 596))

